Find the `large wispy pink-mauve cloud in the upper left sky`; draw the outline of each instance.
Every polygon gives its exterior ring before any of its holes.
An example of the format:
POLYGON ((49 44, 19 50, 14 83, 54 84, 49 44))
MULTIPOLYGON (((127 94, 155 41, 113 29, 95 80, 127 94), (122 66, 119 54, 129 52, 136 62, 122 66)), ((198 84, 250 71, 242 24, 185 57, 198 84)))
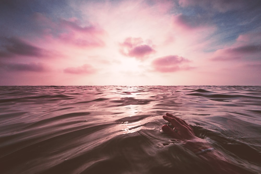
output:
POLYGON ((69 19, 58 18, 54 21, 41 13, 34 13, 35 23, 40 28, 40 37, 51 37, 53 40, 59 40, 63 44, 71 44, 78 47, 102 47, 104 41, 104 30, 98 25, 82 22, 72 17, 69 19), (82 26, 83 25, 83 26, 82 26))

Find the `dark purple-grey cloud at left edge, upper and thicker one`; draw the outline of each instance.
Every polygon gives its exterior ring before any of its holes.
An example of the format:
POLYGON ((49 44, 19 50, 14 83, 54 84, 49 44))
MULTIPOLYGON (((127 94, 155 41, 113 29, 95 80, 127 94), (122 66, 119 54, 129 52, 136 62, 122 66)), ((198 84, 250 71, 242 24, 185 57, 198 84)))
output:
POLYGON ((15 57, 15 56, 31 56, 44 57, 47 56, 47 51, 39 47, 30 45, 19 38, 1 38, 2 45, 0 49, 0 57, 15 57))

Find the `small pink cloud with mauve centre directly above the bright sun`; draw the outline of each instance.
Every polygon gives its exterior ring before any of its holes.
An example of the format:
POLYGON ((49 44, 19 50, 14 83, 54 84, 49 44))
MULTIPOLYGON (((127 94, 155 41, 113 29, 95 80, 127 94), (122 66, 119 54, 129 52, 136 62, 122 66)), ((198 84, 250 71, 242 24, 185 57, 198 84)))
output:
POLYGON ((120 47, 120 52, 123 55, 141 60, 156 52, 151 46, 144 44, 141 38, 126 38, 125 41, 120 44, 120 47))

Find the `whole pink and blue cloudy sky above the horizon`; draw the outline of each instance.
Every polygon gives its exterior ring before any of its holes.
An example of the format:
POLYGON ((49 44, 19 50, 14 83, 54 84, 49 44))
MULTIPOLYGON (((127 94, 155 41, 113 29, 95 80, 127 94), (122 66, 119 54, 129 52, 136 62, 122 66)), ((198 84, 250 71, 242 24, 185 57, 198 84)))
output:
POLYGON ((261 1, 2 0, 0 85, 261 85, 261 1))

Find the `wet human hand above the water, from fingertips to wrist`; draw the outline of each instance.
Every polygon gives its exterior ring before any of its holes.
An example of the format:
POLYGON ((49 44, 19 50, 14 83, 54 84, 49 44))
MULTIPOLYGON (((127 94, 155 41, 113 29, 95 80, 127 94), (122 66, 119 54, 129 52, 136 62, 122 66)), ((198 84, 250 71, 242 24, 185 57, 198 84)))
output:
POLYGON ((166 113, 163 118, 171 123, 171 127, 163 125, 162 130, 169 136, 177 140, 192 140, 198 137, 195 136, 193 129, 182 119, 175 117, 170 113, 166 113))

